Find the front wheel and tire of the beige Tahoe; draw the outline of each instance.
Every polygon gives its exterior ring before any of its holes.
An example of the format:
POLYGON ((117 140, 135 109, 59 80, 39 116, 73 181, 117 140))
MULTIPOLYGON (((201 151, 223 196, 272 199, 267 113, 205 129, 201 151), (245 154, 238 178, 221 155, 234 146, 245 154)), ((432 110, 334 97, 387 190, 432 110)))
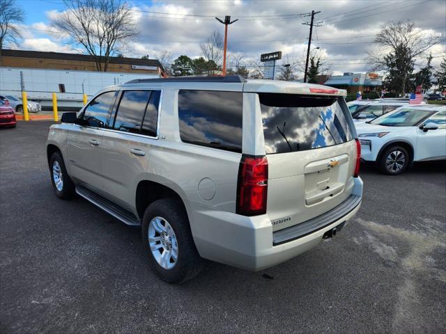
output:
POLYGON ((60 152, 54 152, 49 159, 49 173, 54 193, 56 193, 57 197, 68 200, 75 196, 75 184, 68 176, 60 152))

